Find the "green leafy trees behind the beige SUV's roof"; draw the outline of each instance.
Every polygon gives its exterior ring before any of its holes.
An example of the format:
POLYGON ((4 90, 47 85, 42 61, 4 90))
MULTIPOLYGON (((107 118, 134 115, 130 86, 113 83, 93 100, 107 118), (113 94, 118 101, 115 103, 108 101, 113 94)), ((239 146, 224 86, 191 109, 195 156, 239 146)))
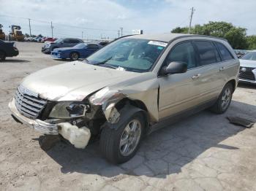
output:
MULTIPOLYGON (((246 30, 246 28, 233 26, 232 23, 210 21, 203 26, 195 25, 191 28, 190 33, 227 39, 233 49, 256 50, 256 35, 247 36, 246 30)), ((171 33, 181 34, 188 32, 188 27, 177 27, 171 31, 171 33)))

